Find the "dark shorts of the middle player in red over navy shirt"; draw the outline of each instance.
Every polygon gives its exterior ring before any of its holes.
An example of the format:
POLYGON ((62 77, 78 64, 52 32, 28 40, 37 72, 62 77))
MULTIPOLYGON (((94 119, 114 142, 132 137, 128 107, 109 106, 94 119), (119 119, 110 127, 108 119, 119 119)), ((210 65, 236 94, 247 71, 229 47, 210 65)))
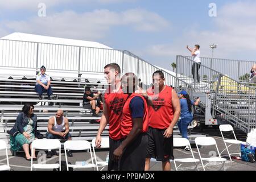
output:
POLYGON ((146 160, 146 148, 148 144, 147 133, 138 137, 126 147, 120 159, 120 171, 144 171, 146 160))

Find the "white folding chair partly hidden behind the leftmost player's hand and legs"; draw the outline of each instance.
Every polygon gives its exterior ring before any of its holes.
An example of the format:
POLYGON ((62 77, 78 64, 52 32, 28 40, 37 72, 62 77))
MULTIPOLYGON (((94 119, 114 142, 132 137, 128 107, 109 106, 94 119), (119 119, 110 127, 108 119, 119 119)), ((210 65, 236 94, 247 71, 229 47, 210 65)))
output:
MULTIPOLYGON (((97 171, 98 171, 99 167, 102 167, 101 168, 101 171, 102 171, 106 166, 108 166, 108 162, 107 161, 97 161, 97 156, 96 156, 96 152, 95 152, 95 147, 96 147, 95 140, 96 140, 96 138, 94 138, 92 140, 94 160, 95 160, 95 163, 96 163, 97 171)), ((109 148, 109 137, 102 137, 101 138, 101 148, 109 148)))

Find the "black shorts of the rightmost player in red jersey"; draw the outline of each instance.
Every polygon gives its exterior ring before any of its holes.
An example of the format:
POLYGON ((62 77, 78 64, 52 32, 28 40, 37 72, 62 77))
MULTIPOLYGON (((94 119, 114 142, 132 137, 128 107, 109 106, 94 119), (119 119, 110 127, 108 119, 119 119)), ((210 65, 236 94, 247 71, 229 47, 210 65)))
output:
POLYGON ((146 158, 156 158, 157 161, 166 162, 174 160, 174 135, 164 138, 166 129, 148 127, 148 146, 146 158))

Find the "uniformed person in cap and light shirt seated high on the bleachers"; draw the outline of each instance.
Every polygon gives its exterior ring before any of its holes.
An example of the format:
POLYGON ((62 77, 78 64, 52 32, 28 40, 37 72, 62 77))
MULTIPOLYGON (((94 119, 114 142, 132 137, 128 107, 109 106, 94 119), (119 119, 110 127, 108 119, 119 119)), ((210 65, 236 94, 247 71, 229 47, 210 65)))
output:
POLYGON ((51 100, 51 78, 48 75, 46 75, 46 67, 44 66, 40 68, 40 73, 36 75, 35 92, 39 94, 39 100, 43 99, 42 94, 44 92, 47 92, 48 100, 51 100))

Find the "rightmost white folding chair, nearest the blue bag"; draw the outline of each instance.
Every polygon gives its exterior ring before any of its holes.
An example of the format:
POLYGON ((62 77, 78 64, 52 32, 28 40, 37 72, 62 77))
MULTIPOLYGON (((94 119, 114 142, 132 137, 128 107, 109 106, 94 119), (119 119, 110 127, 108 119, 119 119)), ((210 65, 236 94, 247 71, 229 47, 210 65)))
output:
POLYGON ((232 144, 237 144, 237 148, 238 148, 238 147, 240 147, 240 144, 243 143, 242 141, 237 140, 237 137, 236 137, 236 134, 234 133, 233 127, 232 127, 231 125, 220 125, 220 132, 221 132, 221 136, 222 136, 222 138, 223 138, 223 140, 224 140, 225 147, 226 147, 224 150, 221 151, 220 154, 222 154, 225 150, 228 151, 229 159, 230 159, 231 161, 232 161, 231 155, 233 155, 233 154, 239 154, 239 155, 241 156, 241 152, 238 152, 238 153, 230 153, 229 150, 228 150, 228 148, 229 148, 230 146, 232 146, 232 144), (228 139, 228 140, 226 140, 226 139, 224 138, 224 135, 223 135, 222 131, 224 131, 224 132, 226 132, 226 131, 232 131, 235 139, 228 139), (227 143, 230 143, 229 146, 227 146, 227 143))

